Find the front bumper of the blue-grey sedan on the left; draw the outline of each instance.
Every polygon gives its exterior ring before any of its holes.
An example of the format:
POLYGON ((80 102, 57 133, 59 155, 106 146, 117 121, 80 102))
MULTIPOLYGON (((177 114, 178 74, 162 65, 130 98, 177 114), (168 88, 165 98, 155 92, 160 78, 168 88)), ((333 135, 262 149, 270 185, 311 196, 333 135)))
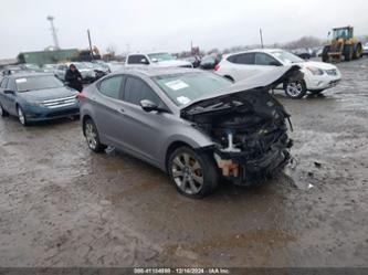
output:
POLYGON ((80 114, 78 103, 59 108, 48 108, 41 106, 27 106, 22 108, 28 121, 50 120, 62 117, 76 116, 80 114))

